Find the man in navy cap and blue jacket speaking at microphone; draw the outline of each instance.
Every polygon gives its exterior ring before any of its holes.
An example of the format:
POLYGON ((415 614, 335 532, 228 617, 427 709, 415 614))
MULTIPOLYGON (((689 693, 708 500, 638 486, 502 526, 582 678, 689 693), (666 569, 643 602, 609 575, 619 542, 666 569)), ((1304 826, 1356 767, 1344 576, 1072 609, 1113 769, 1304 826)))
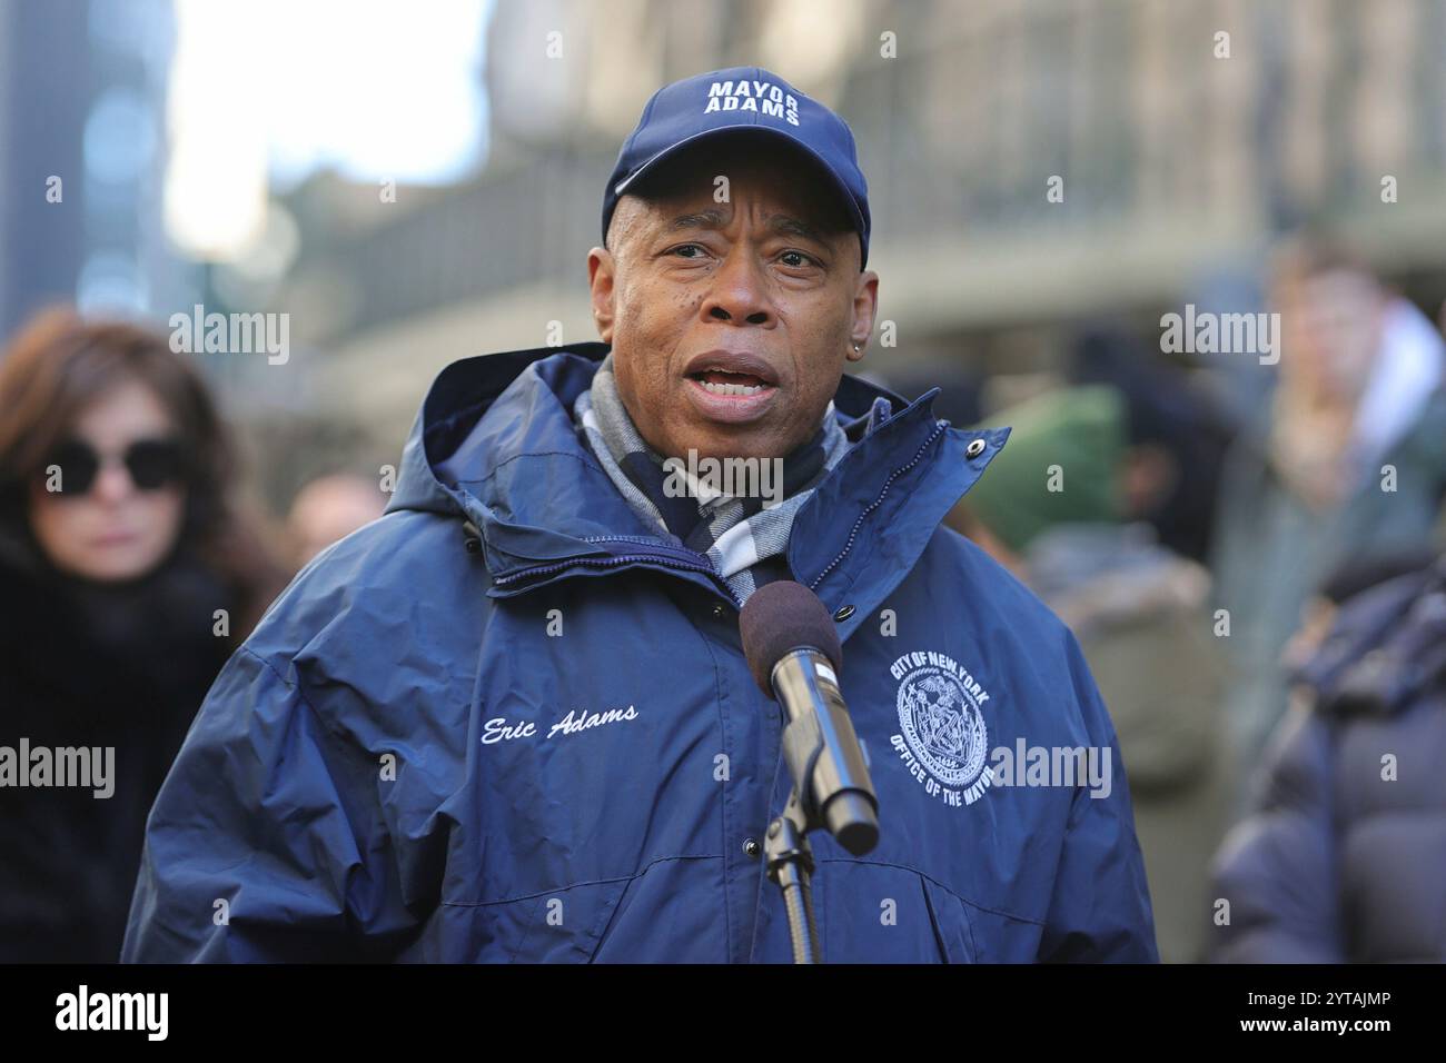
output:
POLYGON ((603 343, 444 370, 388 513, 228 662, 123 957, 787 962, 761 858, 791 787, 737 612, 788 577, 837 620, 879 798, 866 856, 811 839, 823 957, 1155 960, 1122 771, 985 761, 1118 767, 1073 636, 940 528, 1006 431, 843 376, 878 292, 849 127, 752 67, 668 85, 603 237, 603 343), (782 474, 716 498, 668 458, 782 474))

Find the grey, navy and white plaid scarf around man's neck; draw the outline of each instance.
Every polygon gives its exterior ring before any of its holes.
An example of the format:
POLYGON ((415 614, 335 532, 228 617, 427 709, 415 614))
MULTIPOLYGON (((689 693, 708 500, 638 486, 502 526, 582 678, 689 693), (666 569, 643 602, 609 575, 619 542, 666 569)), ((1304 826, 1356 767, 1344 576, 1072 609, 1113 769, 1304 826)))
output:
POLYGON ((784 458, 782 502, 765 505, 763 498, 720 495, 710 490, 717 484, 700 484, 685 476, 685 467, 677 471, 665 467, 665 458, 638 434, 617 395, 612 354, 597 367, 591 389, 577 396, 573 418, 643 524, 704 554, 739 602, 748 602, 761 583, 778 577, 794 515, 849 450, 830 402, 814 437, 784 458), (677 492, 680 477, 688 483, 687 493, 677 492), (761 565, 763 561, 769 564, 761 565))

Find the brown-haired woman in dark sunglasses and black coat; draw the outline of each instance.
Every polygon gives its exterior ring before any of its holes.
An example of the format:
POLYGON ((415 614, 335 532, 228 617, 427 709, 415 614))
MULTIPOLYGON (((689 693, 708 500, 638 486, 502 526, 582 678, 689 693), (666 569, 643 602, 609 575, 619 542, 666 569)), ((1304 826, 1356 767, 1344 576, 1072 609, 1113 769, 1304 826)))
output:
POLYGON ((52 309, 0 362, 0 745, 114 749, 108 797, 0 788, 0 960, 120 955, 150 803, 283 581, 234 480, 163 334, 52 309))

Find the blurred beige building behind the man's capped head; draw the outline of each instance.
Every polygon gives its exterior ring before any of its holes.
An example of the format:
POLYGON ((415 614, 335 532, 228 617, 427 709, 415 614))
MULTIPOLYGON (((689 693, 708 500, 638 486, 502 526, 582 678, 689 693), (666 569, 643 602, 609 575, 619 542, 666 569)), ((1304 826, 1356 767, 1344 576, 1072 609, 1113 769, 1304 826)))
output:
POLYGON ((325 351, 308 395, 401 440, 445 363, 596 338, 584 257, 622 139, 665 81, 753 62, 857 136, 885 376, 1048 367, 1083 315, 1257 309, 1262 250, 1304 218, 1446 292, 1446 0, 500 0, 476 179, 285 198, 275 305, 325 351))

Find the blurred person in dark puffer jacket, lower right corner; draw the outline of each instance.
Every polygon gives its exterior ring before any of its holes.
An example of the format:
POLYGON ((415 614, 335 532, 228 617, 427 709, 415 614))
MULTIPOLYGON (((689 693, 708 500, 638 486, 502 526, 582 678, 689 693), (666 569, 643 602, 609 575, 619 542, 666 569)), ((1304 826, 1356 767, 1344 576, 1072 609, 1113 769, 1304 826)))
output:
POLYGON ((1446 560, 1348 563, 1291 657, 1291 707, 1213 868, 1212 959, 1440 963, 1446 560))

